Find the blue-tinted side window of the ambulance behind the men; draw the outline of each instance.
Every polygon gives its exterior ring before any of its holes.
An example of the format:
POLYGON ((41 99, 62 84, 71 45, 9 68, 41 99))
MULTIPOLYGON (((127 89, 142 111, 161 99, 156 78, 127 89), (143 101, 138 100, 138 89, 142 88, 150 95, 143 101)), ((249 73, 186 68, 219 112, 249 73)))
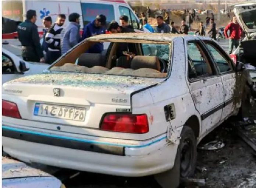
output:
POLYGON ((106 16, 106 27, 115 19, 114 6, 111 4, 100 3, 81 3, 83 25, 95 20, 97 15, 103 14, 106 16))

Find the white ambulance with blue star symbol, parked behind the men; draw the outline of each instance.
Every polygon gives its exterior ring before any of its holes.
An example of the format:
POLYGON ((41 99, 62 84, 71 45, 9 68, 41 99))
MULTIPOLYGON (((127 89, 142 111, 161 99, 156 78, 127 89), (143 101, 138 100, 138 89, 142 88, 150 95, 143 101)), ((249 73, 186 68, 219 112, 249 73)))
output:
MULTIPOLYGON (((2 38, 17 37, 17 26, 13 26, 13 21, 17 23, 26 19, 26 11, 35 10, 37 14, 36 25, 39 34, 43 33, 42 21, 43 17, 51 16, 55 22, 58 14, 68 15, 77 12, 81 15, 81 29, 83 26, 93 21, 96 15, 104 14, 107 17, 107 24, 112 20, 119 22, 121 15, 127 15, 129 24, 134 29, 139 29, 139 19, 133 10, 125 1, 2 1, 2 38)), ((64 27, 68 25, 68 19, 64 27)))

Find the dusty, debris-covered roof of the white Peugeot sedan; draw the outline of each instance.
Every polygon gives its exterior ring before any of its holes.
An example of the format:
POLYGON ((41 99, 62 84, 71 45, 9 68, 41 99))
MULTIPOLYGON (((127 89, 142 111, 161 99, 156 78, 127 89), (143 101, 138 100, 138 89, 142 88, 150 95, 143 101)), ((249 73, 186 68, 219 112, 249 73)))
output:
MULTIPOLYGON (((159 41, 159 42, 171 42, 174 38, 186 38, 195 37, 186 34, 171 34, 171 33, 117 33, 117 34, 100 34, 88 38, 88 40, 116 40, 116 39, 130 39, 130 40, 147 40, 147 41, 159 41)), ((195 37, 197 38, 197 37, 195 37)))

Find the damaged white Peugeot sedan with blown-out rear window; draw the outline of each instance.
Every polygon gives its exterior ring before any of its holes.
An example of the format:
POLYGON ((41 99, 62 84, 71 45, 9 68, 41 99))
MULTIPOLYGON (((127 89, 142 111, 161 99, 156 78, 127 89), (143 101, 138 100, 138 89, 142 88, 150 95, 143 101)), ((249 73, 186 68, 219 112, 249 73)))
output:
POLYGON ((239 111, 238 75, 210 38, 94 36, 43 74, 3 85, 3 150, 88 172, 139 177, 178 166, 174 176, 188 177, 199 141, 239 111), (98 42, 110 42, 107 52, 85 53, 98 42))

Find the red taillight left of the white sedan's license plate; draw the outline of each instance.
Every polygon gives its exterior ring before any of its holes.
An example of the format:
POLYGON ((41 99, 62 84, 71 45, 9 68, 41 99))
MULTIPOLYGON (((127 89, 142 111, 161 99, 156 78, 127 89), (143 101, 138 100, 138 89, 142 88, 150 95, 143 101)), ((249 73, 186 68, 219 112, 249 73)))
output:
POLYGON ((11 118, 21 119, 21 115, 19 114, 17 104, 6 100, 2 100, 2 115, 11 118))

